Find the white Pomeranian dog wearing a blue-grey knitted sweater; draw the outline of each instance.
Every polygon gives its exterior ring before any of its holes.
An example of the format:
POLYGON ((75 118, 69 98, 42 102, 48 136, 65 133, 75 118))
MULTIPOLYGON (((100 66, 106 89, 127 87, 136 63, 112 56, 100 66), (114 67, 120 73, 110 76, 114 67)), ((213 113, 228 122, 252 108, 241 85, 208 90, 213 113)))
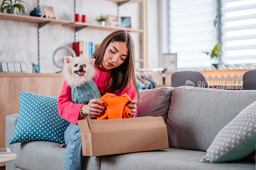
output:
POLYGON ((100 92, 92 78, 95 75, 94 58, 64 57, 63 74, 71 87, 74 103, 88 104, 91 99, 100 99, 100 92))

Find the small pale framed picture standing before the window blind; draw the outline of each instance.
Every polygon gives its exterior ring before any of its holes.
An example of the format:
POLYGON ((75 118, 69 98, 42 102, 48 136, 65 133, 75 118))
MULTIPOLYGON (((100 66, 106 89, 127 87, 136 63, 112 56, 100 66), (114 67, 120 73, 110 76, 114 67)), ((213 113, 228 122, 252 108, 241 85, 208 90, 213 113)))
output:
POLYGON ((163 68, 166 68, 167 70, 177 70, 177 54, 163 54, 162 65, 163 68))

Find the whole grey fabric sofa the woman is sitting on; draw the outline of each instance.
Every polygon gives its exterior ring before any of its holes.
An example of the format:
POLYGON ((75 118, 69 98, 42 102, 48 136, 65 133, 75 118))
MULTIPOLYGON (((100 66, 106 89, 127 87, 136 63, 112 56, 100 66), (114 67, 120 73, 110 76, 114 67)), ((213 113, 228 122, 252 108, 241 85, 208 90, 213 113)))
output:
MULTIPOLYGON (((162 87, 140 91, 138 116, 163 116, 169 149, 86 157, 83 169, 255 169, 255 162, 199 163, 217 133, 256 101, 256 90, 162 87)), ((18 114, 6 116, 6 147, 17 159, 6 169, 63 169, 65 148, 34 141, 9 145, 18 114)))

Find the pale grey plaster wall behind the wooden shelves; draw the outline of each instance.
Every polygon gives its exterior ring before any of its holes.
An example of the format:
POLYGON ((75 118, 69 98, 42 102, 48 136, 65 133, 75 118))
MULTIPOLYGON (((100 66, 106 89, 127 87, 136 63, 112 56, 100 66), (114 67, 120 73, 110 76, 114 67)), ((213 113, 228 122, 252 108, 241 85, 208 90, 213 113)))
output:
MULTIPOLYGON (((2 3, 2 1, 0 1, 2 3)), ((74 22, 73 0, 41 0, 40 11, 43 13, 42 5, 52 6, 57 19, 74 22)), ((30 0, 26 1, 25 15, 33 10, 30 0)), ((117 15, 117 4, 106 0, 77 0, 77 13, 86 15, 88 23, 95 23, 97 16, 117 15), (99 5, 100 4, 100 5, 99 5)), ((130 16, 133 29, 140 29, 140 4, 124 4, 120 6, 120 16, 130 16), (129 9, 129 10, 127 10, 129 9)), ((38 63, 38 24, 0 19, 0 62, 2 60, 25 61, 28 72, 32 72, 32 62, 38 63)), ((78 32, 78 41, 93 41, 100 44, 111 31, 100 31, 93 29, 82 29, 78 32)), ((136 58, 140 58, 140 33, 131 33, 135 43, 136 58)), ((61 25, 45 25, 41 28, 41 72, 54 73, 60 71, 52 62, 54 50, 60 46, 72 47, 75 41, 74 28, 61 25)), ((65 50, 57 52, 56 57, 62 60, 65 55, 70 55, 65 50)), ((137 65, 139 63, 136 63, 137 65)))

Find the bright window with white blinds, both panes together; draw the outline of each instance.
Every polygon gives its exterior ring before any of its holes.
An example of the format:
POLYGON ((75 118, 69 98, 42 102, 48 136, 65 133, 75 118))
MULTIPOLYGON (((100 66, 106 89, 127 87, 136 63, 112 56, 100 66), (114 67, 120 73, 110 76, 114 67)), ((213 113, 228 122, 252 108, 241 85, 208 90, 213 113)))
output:
POLYGON ((211 67, 210 51, 221 35, 224 64, 256 63, 256 0, 169 0, 170 52, 177 67, 211 67), (217 3, 220 2, 220 5, 217 3), (221 29, 214 26, 221 6, 221 29))

